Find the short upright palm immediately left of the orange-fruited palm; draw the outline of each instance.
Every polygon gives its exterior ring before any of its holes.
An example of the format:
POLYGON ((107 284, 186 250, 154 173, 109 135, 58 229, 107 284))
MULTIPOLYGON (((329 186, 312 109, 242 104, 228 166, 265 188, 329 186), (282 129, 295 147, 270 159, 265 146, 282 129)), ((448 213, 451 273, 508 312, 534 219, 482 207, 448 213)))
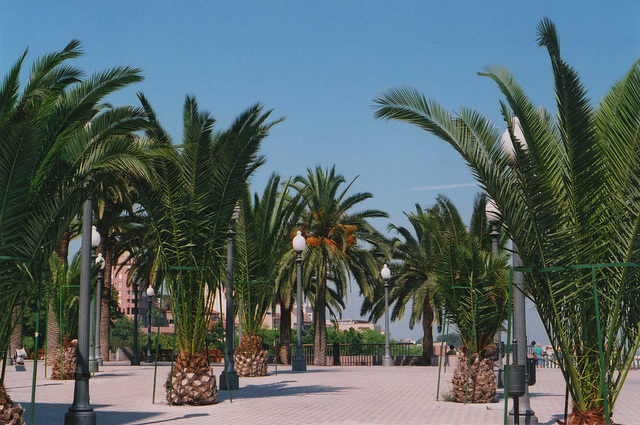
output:
POLYGON ((252 202, 246 188, 240 198, 234 287, 242 298, 239 318, 246 333, 234 355, 239 376, 267 374, 267 351, 256 334, 277 290, 285 286, 279 279, 279 266, 291 250, 290 235, 304 208, 299 195, 291 196, 289 181, 280 186, 280 177, 272 174, 262 197, 255 194, 252 202))

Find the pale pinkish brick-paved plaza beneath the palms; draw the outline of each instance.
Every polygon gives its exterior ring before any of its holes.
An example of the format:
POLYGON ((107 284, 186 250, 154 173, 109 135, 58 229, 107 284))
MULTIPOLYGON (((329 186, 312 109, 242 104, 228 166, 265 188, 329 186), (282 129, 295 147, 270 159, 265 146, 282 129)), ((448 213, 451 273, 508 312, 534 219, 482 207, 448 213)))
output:
MULTIPOLYGON (((27 408, 31 399, 32 362, 27 371, 7 367, 6 387, 27 408)), ((222 368, 215 366, 219 376, 222 368)), ((90 381, 91 404, 99 425, 165 424, 478 424, 503 423, 504 403, 463 405, 442 401, 452 371, 442 375, 436 401, 437 367, 310 367, 292 373, 279 367, 263 378, 241 378, 240 390, 219 394, 219 403, 201 407, 169 407, 163 387, 169 366, 158 368, 156 403, 151 403, 153 366, 106 363, 90 381)), ((37 425, 60 425, 73 401, 73 381, 44 378, 42 363, 36 393, 37 425)), ((557 369, 538 369, 531 387, 531 406, 540 424, 551 425, 564 409, 564 382, 557 369)), ((631 371, 617 402, 617 424, 640 423, 635 405, 640 371, 631 371)))

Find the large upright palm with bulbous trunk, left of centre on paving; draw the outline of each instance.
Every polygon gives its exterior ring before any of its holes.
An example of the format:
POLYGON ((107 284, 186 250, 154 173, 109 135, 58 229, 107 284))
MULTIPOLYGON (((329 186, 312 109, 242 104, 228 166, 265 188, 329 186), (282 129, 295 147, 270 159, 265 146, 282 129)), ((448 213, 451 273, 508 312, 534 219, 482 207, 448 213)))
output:
MULTIPOLYGON (((144 98, 152 128, 149 139, 173 146, 144 98)), ((214 119, 193 97, 184 104, 183 141, 174 153, 155 161, 157 185, 140 185, 140 204, 148 215, 174 317, 179 355, 167 381, 172 404, 216 401, 215 375, 202 355, 216 285, 222 269, 226 232, 247 178, 260 166, 261 141, 275 123, 255 105, 231 127, 214 134, 214 119), (189 377, 189 379, 187 379, 189 377)))

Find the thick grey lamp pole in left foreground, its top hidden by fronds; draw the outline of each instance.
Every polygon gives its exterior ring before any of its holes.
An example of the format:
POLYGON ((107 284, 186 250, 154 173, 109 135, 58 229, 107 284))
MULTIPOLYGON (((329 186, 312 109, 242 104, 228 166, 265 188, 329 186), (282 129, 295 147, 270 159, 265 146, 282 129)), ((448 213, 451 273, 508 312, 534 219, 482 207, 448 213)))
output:
MULTIPOLYGON (((96 425, 96 413, 89 404, 89 304, 91 303, 91 220, 93 197, 89 197, 82 211, 82 246, 80 267, 80 300, 78 305, 77 366, 74 374, 73 404, 64 417, 65 425, 96 425)), ((97 233, 97 232, 96 232, 97 233)), ((96 246, 100 244, 98 240, 96 246)))

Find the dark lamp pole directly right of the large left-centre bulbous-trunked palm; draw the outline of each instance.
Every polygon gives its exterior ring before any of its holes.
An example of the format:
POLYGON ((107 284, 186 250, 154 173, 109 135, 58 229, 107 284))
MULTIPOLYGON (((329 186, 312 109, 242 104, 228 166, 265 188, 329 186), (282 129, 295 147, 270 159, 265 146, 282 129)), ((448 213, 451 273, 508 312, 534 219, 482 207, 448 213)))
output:
MULTIPOLYGON (((227 231, 227 280, 224 286, 225 298, 227 301, 227 308, 225 313, 225 349, 224 349, 224 370, 220 374, 220 389, 221 390, 237 390, 240 388, 240 380, 236 373, 233 360, 233 349, 235 341, 234 322, 235 316, 233 314, 233 238, 235 236, 235 230, 233 229, 235 221, 238 219, 240 210, 238 205, 233 211, 231 216, 231 222, 229 223, 229 230, 227 231)), ((221 306, 222 307, 222 306, 221 306)), ((222 308, 220 308, 222 310, 222 308)))

